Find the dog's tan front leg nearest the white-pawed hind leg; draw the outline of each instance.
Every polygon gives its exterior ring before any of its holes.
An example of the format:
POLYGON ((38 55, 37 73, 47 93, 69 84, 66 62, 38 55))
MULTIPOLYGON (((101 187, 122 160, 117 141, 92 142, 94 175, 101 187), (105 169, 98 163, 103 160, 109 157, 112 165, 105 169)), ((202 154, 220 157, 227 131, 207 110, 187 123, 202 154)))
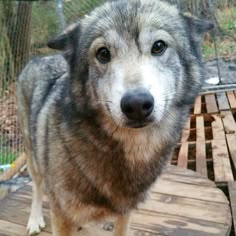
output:
POLYGON ((51 209, 51 221, 53 236, 74 236, 76 235, 76 228, 65 217, 63 212, 59 209, 52 207, 51 209))

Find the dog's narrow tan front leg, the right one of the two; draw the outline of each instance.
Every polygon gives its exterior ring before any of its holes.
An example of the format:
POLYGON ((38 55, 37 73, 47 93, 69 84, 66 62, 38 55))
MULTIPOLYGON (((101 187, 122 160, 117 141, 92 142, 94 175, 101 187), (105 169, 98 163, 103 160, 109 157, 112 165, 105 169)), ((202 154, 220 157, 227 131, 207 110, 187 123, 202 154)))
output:
POLYGON ((118 216, 115 222, 114 236, 128 236, 129 221, 130 213, 118 216))

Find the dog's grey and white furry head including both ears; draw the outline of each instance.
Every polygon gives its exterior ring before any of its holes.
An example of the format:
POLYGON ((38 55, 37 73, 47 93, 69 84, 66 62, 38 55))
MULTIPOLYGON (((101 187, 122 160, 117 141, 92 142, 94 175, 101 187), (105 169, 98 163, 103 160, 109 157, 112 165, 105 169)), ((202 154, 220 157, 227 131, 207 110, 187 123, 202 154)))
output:
POLYGON ((201 38, 212 27, 162 1, 124 0, 95 9, 56 42, 70 49, 75 103, 141 128, 193 103, 201 38))

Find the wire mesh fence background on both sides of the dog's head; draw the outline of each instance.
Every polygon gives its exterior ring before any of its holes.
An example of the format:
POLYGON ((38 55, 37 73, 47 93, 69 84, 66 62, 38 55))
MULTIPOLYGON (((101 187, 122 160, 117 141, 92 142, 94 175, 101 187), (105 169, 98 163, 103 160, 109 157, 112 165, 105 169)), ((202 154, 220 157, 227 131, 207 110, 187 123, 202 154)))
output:
MULTIPOLYGON (((215 22, 215 31, 204 39, 203 55, 210 60, 209 73, 218 77, 220 73, 235 83, 236 0, 166 1, 215 22)), ((48 39, 103 2, 0 0, 0 171, 23 151, 15 99, 15 81, 20 71, 33 56, 52 52, 46 46, 48 39)))

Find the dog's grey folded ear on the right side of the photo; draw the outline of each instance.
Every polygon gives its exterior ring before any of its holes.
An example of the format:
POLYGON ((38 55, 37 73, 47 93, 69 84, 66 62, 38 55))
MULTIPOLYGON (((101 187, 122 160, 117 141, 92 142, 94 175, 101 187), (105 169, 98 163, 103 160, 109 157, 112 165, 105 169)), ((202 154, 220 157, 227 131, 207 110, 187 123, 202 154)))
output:
POLYGON ((199 39, 199 41, 202 39, 204 33, 214 28, 214 24, 208 20, 200 20, 186 14, 182 14, 182 17, 189 32, 194 38, 199 39))

